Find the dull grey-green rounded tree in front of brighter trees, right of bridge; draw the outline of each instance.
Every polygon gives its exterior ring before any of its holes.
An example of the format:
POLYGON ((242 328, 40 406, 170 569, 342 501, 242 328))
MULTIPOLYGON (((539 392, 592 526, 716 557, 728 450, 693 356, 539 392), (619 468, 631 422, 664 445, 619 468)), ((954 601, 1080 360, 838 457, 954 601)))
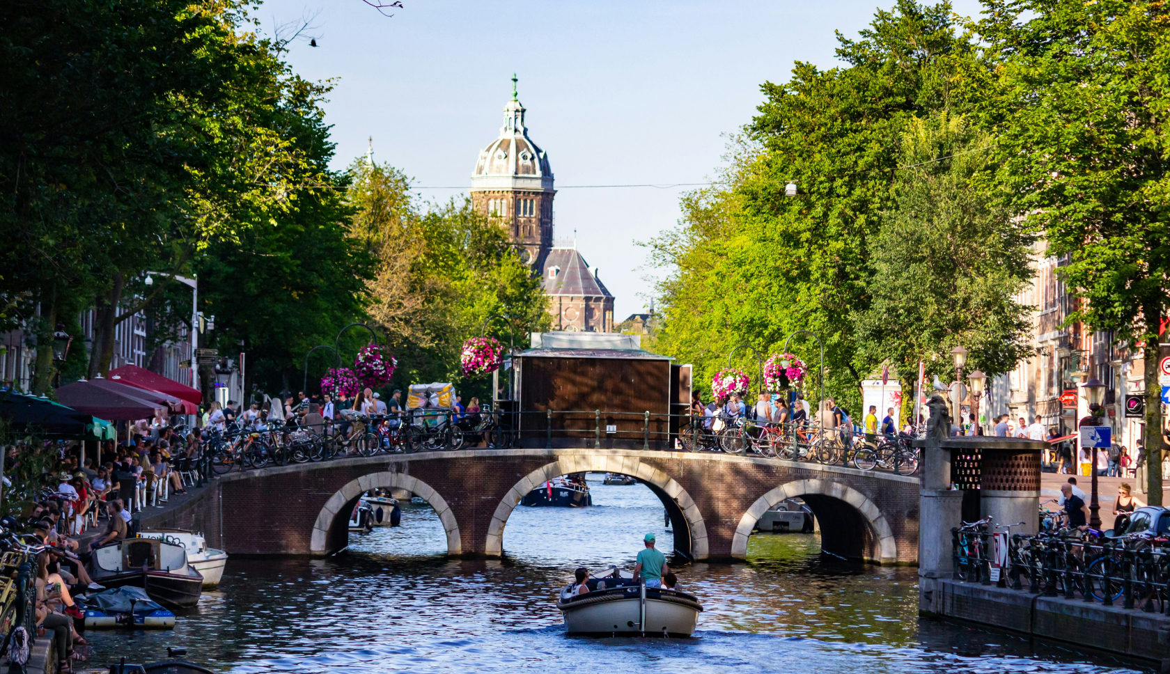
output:
POLYGON ((1027 353, 1031 308, 1014 296, 1032 277, 1032 236, 997 194, 993 149, 962 116, 915 119, 902 135, 904 168, 869 247, 869 304, 854 324, 865 359, 897 366, 903 419, 920 360, 954 378, 949 352, 961 344, 968 372, 994 377, 1027 353))

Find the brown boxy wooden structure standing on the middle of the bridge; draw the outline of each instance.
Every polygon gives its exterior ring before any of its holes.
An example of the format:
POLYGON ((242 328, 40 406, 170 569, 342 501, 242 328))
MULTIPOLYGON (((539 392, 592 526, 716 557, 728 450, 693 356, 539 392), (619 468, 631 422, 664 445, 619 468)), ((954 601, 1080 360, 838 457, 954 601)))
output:
POLYGON ((522 446, 670 449, 672 415, 690 404, 690 366, 640 349, 529 349, 515 363, 522 446))

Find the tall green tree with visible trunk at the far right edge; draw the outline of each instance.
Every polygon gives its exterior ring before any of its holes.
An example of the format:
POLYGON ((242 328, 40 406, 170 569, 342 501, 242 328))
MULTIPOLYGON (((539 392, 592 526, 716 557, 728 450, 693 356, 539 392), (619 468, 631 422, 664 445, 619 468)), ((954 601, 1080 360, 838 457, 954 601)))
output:
POLYGON ((1000 128, 1002 180, 1042 228, 1069 321, 1145 357, 1150 503, 1162 503, 1158 333, 1170 274, 1170 11, 1162 1, 987 0, 980 114, 1000 128))

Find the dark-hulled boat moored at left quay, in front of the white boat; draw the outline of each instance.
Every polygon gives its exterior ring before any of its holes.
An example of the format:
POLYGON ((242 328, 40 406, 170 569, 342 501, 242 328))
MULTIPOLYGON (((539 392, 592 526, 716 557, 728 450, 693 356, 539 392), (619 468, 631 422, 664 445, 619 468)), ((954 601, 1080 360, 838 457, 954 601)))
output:
POLYGON ((94 550, 90 577, 106 587, 142 587, 156 601, 194 606, 204 577, 187 563, 181 545, 159 538, 126 538, 94 550))

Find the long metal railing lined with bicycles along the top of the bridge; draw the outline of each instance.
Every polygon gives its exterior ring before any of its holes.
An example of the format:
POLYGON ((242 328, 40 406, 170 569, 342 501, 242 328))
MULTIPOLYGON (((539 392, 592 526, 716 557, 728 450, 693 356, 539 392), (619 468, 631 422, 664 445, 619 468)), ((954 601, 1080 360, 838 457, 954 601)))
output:
POLYGON ((314 425, 260 426, 216 438, 205 453, 208 474, 336 456, 474 447, 626 448, 752 455, 860 470, 914 475, 918 454, 909 434, 866 433, 852 425, 824 428, 743 417, 655 414, 603 410, 414 410, 349 415, 314 425))

